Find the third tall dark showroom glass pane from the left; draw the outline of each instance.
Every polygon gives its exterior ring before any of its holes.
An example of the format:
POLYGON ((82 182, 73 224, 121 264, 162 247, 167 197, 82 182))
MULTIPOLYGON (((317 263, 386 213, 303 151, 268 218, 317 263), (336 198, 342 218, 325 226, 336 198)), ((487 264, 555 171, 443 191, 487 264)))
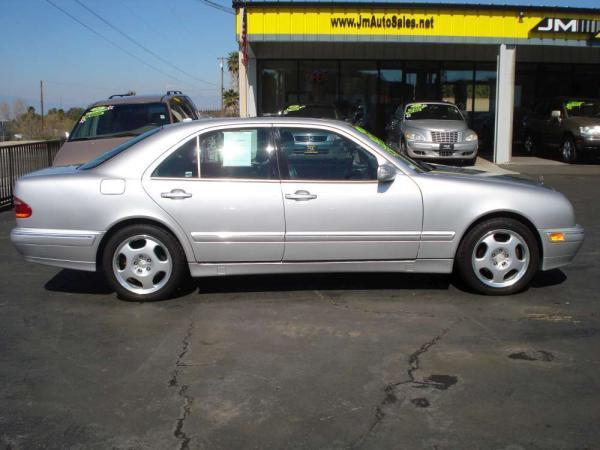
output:
POLYGON ((377 118, 377 78, 374 61, 342 61, 340 63, 342 116, 353 124, 374 130, 377 118))

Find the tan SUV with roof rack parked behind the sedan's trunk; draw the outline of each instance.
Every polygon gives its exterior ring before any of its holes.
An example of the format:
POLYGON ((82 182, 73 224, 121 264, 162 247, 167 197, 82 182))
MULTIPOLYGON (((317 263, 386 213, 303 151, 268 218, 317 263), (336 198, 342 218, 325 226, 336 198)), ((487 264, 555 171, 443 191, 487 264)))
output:
POLYGON ((198 119, 181 91, 163 95, 111 95, 92 103, 54 158, 54 166, 83 164, 140 134, 169 123, 198 119))

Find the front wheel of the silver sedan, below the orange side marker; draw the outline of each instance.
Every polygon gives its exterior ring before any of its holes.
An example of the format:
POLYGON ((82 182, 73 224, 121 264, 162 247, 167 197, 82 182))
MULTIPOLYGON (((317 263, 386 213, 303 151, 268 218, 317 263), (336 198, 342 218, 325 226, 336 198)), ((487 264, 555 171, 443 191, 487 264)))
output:
POLYGON ((455 267, 475 292, 510 295, 529 286, 540 266, 540 251, 532 231, 511 218, 493 218, 463 237, 455 267))

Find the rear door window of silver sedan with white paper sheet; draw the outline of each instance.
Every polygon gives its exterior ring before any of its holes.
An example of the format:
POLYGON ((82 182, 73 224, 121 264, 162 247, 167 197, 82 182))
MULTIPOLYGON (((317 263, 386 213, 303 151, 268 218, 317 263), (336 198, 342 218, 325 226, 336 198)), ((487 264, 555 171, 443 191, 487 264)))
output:
POLYGON ((236 128, 200 135, 200 177, 278 179, 271 128, 236 128))

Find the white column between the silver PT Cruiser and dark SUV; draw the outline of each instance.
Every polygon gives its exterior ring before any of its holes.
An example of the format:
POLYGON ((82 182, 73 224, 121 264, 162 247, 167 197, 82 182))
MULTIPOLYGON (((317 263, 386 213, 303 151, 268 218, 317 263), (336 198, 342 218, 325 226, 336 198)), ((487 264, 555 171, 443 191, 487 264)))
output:
POLYGON ((515 103, 514 45, 500 45, 496 73, 496 124, 494 133, 494 162, 503 164, 512 157, 513 114, 515 103))

